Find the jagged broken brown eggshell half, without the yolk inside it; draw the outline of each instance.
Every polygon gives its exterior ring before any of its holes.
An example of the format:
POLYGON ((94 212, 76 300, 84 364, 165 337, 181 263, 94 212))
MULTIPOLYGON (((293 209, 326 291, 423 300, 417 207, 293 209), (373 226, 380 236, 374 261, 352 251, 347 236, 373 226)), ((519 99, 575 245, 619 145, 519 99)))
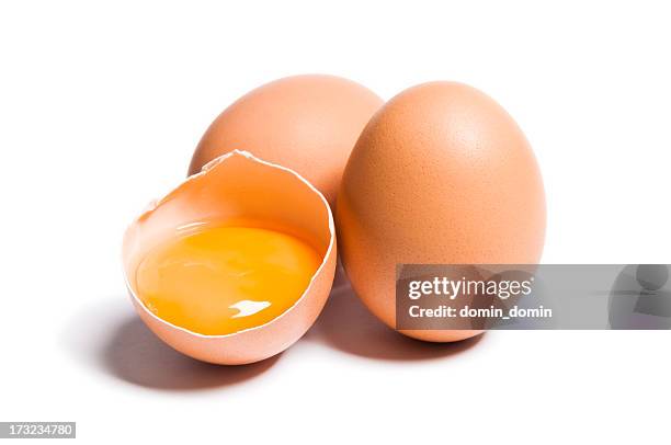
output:
POLYGON ((140 215, 127 229, 123 264, 133 305, 161 340, 194 358, 227 365, 258 362, 296 342, 321 311, 336 271, 331 209, 297 173, 232 151, 206 164, 140 215), (161 320, 136 295, 135 272, 146 252, 203 221, 266 221, 310 242, 323 261, 303 296, 266 324, 228 335, 203 335, 161 320))

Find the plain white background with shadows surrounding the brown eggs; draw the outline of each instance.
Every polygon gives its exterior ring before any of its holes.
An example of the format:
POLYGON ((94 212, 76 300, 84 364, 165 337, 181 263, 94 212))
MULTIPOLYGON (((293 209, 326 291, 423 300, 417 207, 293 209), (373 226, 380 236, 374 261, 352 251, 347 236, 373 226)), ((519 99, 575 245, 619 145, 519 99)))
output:
POLYGON ((670 18, 662 1, 3 2, 0 420, 77 421, 86 443, 668 443, 671 332, 435 347, 345 288, 275 360, 209 366, 138 321, 120 244, 227 104, 326 72, 385 99, 482 89, 541 162, 544 262, 669 263, 670 18))

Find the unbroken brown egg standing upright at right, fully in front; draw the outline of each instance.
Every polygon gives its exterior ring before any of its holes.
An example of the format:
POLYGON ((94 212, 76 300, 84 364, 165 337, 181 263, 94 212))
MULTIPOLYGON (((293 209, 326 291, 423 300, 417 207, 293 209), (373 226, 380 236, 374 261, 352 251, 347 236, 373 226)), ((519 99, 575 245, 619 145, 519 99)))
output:
MULTIPOLYGON (((410 88, 371 119, 336 214, 352 285, 391 328, 397 263, 536 263, 545 238, 543 182, 524 134, 492 99, 455 82, 410 88)), ((401 332, 434 342, 479 333, 401 332)))

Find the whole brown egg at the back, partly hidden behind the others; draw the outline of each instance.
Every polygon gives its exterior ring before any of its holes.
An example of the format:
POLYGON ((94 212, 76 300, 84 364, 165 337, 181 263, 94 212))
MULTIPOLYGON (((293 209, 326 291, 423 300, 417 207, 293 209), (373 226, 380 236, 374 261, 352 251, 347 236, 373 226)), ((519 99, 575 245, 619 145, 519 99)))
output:
POLYGON ((240 98, 209 126, 189 174, 234 149, 287 167, 333 204, 342 170, 361 130, 383 100, 334 76, 276 80, 240 98))

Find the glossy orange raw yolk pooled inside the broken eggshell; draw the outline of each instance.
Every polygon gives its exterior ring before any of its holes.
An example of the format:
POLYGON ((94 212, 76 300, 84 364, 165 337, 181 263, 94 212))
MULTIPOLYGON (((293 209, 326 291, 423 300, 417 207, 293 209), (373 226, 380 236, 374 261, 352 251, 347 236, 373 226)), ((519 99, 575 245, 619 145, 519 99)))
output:
POLYGON ((249 227, 209 227, 150 251, 137 295, 157 317, 206 335, 266 323, 300 298, 321 259, 293 236, 249 227))

